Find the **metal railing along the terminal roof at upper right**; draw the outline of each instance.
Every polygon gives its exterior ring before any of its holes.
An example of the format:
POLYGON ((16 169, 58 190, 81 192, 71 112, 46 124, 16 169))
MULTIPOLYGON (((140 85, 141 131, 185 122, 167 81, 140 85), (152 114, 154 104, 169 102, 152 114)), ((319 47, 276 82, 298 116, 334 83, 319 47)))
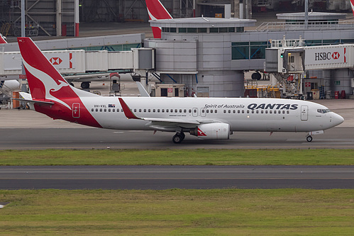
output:
POLYGON ((248 31, 284 31, 284 30, 339 30, 353 29, 354 21, 316 21, 309 22, 307 26, 304 22, 265 22, 255 30, 248 31))

